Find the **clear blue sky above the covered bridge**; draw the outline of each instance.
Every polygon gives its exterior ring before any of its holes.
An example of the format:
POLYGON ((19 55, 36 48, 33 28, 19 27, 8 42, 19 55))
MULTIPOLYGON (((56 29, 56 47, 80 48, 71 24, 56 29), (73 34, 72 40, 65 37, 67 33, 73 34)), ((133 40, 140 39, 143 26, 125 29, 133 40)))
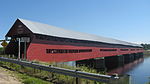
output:
POLYGON ((150 43, 150 0, 1 0, 0 39, 17 18, 150 43))

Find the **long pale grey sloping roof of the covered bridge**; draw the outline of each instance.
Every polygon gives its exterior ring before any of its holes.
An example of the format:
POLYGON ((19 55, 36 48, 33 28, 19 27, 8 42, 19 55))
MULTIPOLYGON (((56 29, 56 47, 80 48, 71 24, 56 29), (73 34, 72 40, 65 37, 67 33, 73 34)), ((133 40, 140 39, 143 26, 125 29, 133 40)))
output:
POLYGON ((30 31, 36 34, 56 36, 56 37, 62 37, 62 38, 71 38, 71 39, 77 39, 77 40, 97 41, 97 42, 103 42, 103 43, 109 43, 109 44, 121 44, 121 45, 141 47, 138 44, 133 44, 133 43, 129 43, 126 41, 117 40, 117 39, 66 30, 63 28, 58 28, 55 26, 42 24, 39 22, 33 22, 29 20, 24 20, 24 19, 18 19, 18 20, 20 20, 30 31))

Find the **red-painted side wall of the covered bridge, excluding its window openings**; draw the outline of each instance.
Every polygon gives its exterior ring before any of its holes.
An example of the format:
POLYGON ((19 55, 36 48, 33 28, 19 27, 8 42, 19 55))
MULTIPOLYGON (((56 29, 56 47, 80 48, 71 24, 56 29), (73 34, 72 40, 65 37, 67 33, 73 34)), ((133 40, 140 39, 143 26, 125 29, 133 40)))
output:
MULTIPOLYGON (((100 51, 100 49, 108 49, 108 48, 30 43, 28 50, 27 50, 27 59, 39 60, 39 61, 45 61, 45 62, 67 62, 67 61, 76 61, 76 60, 90 59, 90 58, 96 58, 96 57, 106 57, 106 56, 115 56, 115 55, 143 52, 143 50, 120 51, 120 48, 109 48, 109 49, 117 49, 117 51, 103 52, 103 51, 100 51), (55 53, 54 54, 54 53, 46 53, 46 49, 92 49, 92 52, 55 53)), ((126 49, 131 49, 131 48, 126 48, 126 49)), ((138 48, 135 48, 135 49, 138 49, 138 48)))

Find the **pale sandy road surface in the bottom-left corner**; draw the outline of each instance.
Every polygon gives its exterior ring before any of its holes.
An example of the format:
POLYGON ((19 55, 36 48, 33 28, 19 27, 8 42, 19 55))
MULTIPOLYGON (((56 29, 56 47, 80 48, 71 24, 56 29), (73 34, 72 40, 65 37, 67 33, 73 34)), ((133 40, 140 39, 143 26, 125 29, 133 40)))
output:
POLYGON ((22 84, 6 69, 0 67, 0 84, 22 84))

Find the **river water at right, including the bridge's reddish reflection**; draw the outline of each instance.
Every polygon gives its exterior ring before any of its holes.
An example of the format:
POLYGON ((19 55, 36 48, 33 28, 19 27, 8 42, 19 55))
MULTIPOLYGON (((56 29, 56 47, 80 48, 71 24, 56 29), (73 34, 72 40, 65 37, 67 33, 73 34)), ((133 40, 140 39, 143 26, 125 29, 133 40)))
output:
POLYGON ((150 56, 137 59, 109 73, 130 75, 129 84, 150 84, 150 56))

